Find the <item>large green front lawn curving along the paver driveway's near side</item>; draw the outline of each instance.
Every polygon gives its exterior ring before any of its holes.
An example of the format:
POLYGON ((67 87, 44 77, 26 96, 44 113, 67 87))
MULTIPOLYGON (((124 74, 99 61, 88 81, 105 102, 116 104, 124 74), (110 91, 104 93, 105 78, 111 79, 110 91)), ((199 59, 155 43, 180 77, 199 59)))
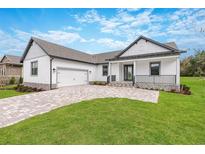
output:
POLYGON ((205 78, 182 82, 192 95, 84 101, 0 129, 0 144, 205 144, 205 78))

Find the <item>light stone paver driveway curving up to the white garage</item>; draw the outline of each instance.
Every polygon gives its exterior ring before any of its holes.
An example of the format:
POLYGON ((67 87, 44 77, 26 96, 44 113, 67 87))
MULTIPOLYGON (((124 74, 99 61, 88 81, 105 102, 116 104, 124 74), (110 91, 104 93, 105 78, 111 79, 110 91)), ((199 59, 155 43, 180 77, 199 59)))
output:
POLYGON ((137 99, 156 103, 159 92, 126 87, 73 86, 22 96, 0 99, 0 127, 5 127, 34 115, 76 103, 105 97, 137 99))

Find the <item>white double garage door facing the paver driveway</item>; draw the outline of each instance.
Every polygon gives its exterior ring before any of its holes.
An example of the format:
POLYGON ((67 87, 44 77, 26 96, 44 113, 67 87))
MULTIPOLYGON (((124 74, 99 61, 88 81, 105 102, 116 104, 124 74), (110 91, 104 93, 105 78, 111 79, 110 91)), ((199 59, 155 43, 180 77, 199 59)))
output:
POLYGON ((88 71, 78 69, 58 69, 58 87, 88 84, 88 71))

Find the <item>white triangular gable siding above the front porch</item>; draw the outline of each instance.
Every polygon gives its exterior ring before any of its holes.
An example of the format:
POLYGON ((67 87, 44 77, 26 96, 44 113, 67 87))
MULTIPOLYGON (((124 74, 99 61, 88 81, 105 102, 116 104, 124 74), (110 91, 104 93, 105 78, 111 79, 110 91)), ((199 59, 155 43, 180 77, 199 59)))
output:
POLYGON ((135 43, 132 47, 125 51, 125 53, 123 53, 120 57, 167 51, 169 50, 164 47, 161 47, 144 39, 140 39, 137 43, 135 43))

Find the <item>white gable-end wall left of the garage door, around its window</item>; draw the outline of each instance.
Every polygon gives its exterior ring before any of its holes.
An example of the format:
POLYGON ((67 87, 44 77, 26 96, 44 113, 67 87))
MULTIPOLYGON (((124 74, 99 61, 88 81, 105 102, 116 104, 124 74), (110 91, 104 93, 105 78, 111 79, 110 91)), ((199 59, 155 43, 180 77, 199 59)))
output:
POLYGON ((33 43, 23 62, 24 82, 49 84, 50 76, 50 58, 36 44, 33 43), (38 61, 38 75, 31 75, 31 62, 38 61))

